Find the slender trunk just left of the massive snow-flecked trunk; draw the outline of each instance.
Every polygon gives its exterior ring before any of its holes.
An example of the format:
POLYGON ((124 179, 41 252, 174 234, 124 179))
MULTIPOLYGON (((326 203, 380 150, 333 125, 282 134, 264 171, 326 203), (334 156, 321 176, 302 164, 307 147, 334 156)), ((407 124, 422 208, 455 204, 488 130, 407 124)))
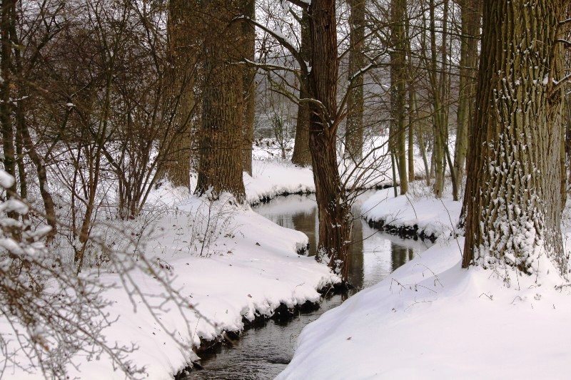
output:
POLYGON ((458 200, 458 189, 464 177, 464 164, 468 149, 468 123, 474 111, 476 66, 477 66, 477 35, 480 33, 481 4, 480 0, 458 1, 461 7, 462 37, 460 38, 460 93, 458 113, 456 117, 456 142, 454 154, 454 173, 458 187, 453 194, 458 200))

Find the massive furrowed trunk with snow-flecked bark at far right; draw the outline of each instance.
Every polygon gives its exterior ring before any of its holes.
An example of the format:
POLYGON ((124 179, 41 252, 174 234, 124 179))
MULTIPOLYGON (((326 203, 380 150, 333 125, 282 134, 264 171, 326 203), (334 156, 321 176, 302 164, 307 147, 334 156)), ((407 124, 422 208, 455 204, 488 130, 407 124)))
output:
POLYGON ((537 270, 546 254, 562 273, 560 232, 562 44, 552 0, 485 1, 473 149, 465 192, 463 267, 537 270))

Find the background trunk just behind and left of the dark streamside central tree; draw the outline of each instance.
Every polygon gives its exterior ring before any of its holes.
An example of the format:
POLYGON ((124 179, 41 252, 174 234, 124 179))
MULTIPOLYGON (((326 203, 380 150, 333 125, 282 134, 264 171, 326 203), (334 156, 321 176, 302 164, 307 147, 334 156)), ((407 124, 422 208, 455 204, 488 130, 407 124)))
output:
MULTIPOLYGON (((311 59, 311 36, 309 28, 309 14, 303 11, 301 16, 301 48, 300 53, 304 61, 311 59)), ((300 99, 308 99, 309 80, 305 73, 300 73, 300 99)), ((311 153, 309 151, 309 103, 300 101, 298 105, 298 118, 295 124, 295 143, 293 145, 293 155, 291 162, 296 165, 311 165, 311 153)))

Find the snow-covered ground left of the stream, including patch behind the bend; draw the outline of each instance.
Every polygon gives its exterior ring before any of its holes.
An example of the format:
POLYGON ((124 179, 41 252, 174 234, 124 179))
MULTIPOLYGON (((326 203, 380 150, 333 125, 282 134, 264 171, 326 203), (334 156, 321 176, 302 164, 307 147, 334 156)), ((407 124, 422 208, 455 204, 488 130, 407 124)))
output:
MULTIPOLYGON (((283 193, 314 191, 310 169, 268 160, 255 160, 253 177, 245 174, 245 183, 252 203, 283 193)), ((280 304, 294 307, 317 302, 319 289, 339 281, 313 257, 298 255, 308 243, 302 232, 280 227, 247 205, 235 205, 231 197, 208 202, 163 183, 153 190, 148 209, 153 214, 144 216, 144 222, 132 222, 138 228, 146 224, 144 232, 130 235, 143 236, 138 252, 144 252, 154 263, 153 269, 161 273, 159 277, 190 300, 192 308, 180 309, 172 301, 163 303, 168 297, 163 284, 141 268, 129 274, 131 284, 121 284, 121 277, 104 269, 101 273, 96 269, 82 273, 99 276, 103 284, 118 285, 103 294, 113 303, 107 310, 109 319, 118 318, 103 334, 110 346, 134 344, 136 350, 128 359, 133 366, 144 367, 143 377, 148 379, 172 379, 197 359, 189 347, 199 346, 201 339, 240 332, 243 318, 270 316, 280 304), (146 297, 133 297, 135 293, 146 297), (153 307, 155 317, 146 303, 153 307)), ((128 232, 133 226, 126 223, 124 230, 128 232)), ((9 326, 0 320, 0 329, 7 332, 9 326)), ((106 354, 92 361, 85 356, 73 360, 78 367, 69 366, 71 377, 125 378, 113 369, 106 354)), ((39 376, 16 368, 4 371, 9 379, 39 376)))

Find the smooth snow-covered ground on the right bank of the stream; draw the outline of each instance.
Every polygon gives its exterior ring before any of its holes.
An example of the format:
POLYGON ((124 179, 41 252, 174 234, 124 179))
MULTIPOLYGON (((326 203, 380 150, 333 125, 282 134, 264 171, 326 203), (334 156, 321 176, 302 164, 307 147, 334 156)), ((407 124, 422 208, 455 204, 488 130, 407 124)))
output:
MULTIPOLYGON (((378 192, 363 209, 436 232, 458 220, 451 202, 378 192)), ((568 215, 563 224, 567 242, 568 215)), ((557 269, 545 256, 532 276, 462 269, 463 244, 440 234, 422 255, 305 327, 278 379, 568 379, 571 288, 557 269)))

